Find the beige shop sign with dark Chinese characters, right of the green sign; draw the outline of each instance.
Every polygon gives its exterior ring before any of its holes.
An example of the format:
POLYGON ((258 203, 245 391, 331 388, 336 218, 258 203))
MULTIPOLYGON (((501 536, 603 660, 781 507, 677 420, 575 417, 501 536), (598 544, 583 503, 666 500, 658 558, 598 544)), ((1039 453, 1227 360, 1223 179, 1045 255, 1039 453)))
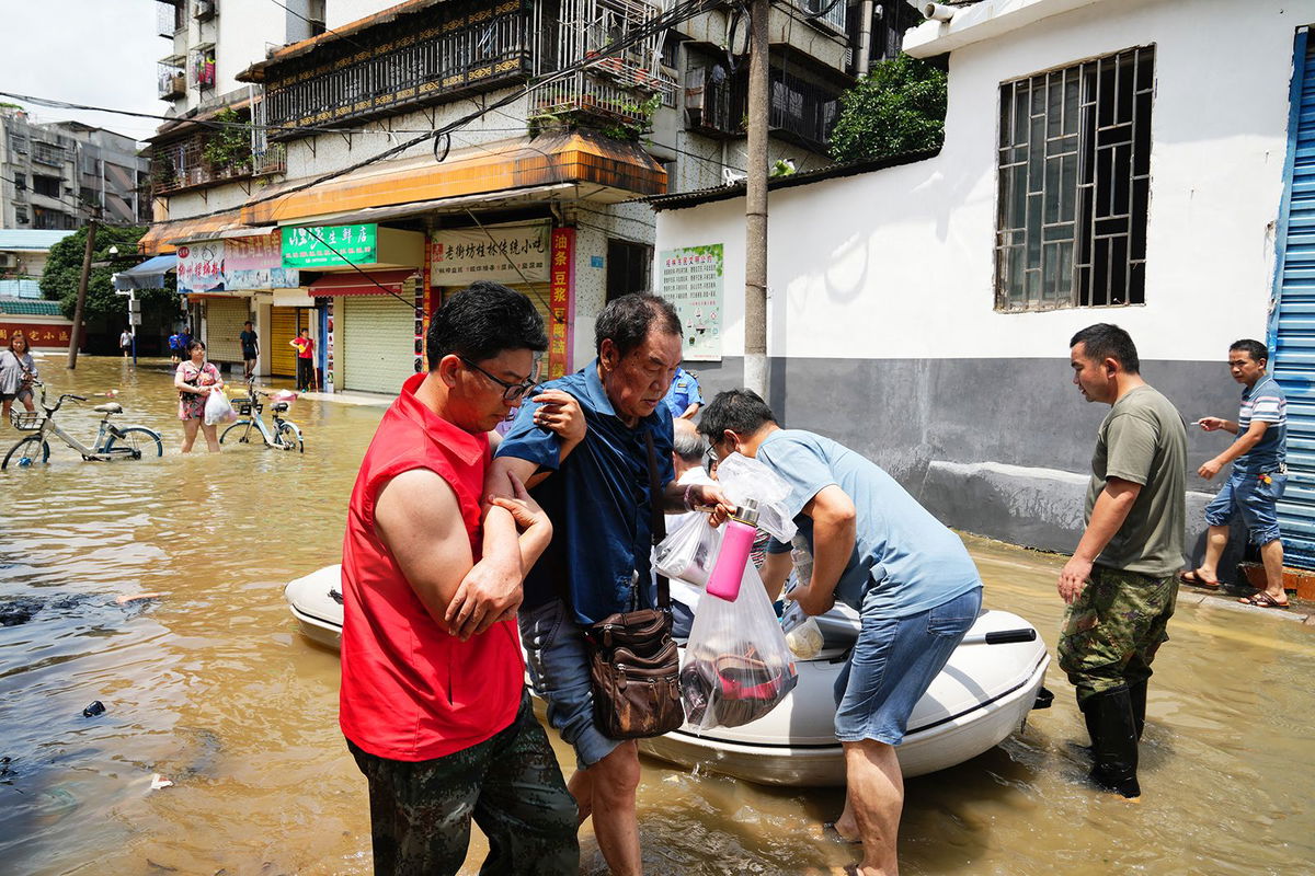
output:
POLYGON ((435 231, 430 278, 435 286, 464 286, 476 280, 544 282, 548 278, 548 230, 546 222, 537 222, 435 231))

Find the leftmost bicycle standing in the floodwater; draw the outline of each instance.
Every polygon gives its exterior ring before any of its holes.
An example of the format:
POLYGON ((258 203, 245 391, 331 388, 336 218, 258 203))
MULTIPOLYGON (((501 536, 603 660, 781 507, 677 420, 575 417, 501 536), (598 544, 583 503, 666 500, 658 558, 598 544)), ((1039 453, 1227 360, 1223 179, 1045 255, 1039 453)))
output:
POLYGON ((32 385, 41 390, 41 407, 45 410, 45 415, 38 411, 9 411, 9 422, 13 423, 16 429, 34 432, 34 435, 20 439, 17 444, 9 448, 4 462, 0 462, 0 469, 29 468, 36 462, 49 462, 51 436, 58 437, 78 450, 82 458, 88 462, 164 456, 164 443, 155 429, 149 429, 145 426, 120 427, 109 422, 109 418, 124 412, 124 407, 118 402, 107 402, 93 408, 97 414, 104 414, 104 416, 100 419, 100 429, 96 432, 96 440, 91 447, 83 444, 55 423, 55 412, 63 406, 64 399, 75 402, 85 402, 87 399, 82 395, 64 393, 54 405, 47 405, 45 385, 41 381, 33 381, 32 385))

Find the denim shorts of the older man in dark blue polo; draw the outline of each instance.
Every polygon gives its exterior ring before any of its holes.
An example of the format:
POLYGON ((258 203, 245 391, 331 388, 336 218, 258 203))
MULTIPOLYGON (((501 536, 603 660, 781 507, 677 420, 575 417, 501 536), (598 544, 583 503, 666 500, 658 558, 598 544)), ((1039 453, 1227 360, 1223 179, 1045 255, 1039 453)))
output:
POLYGON ((576 750, 576 764, 588 770, 621 745, 593 722, 589 653, 573 612, 554 599, 521 612, 534 692, 548 704, 548 724, 576 750))

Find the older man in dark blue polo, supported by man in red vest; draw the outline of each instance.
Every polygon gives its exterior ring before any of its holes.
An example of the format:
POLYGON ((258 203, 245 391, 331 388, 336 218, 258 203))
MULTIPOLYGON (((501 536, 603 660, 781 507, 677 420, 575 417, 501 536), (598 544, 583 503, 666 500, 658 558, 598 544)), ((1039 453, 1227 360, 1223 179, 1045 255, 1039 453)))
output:
POLYGON ((508 474, 515 474, 552 520, 552 542, 525 578, 521 638, 548 722, 576 750, 580 768, 567 787, 580 822, 593 817, 598 847, 618 876, 642 872, 639 749, 594 724, 581 630, 614 612, 654 607, 654 502, 665 511, 717 506, 718 519, 729 511, 715 486, 675 482, 672 416, 663 397, 680 365, 680 318, 656 296, 634 293, 609 303, 594 323, 598 357, 544 386, 580 403, 584 439, 571 443, 552 431, 562 416, 555 408, 526 405, 488 475, 490 494, 509 495, 508 474), (659 496, 650 495, 650 457, 659 496))

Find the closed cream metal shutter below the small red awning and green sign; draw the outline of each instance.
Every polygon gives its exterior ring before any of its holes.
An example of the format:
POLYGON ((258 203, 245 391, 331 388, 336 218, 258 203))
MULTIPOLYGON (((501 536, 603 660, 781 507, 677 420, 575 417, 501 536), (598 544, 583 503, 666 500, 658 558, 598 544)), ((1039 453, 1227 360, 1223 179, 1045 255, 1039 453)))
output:
POLYGON ((337 341, 343 389, 396 394, 416 373, 416 315, 392 296, 345 296, 337 341))

